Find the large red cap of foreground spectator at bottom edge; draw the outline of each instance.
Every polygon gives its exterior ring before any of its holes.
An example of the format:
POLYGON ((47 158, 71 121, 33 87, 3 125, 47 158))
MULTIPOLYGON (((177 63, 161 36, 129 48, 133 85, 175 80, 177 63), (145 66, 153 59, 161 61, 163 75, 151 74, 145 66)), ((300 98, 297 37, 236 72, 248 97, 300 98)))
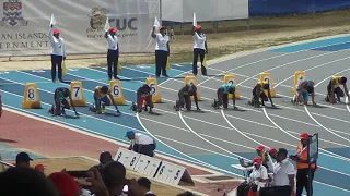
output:
POLYGON ((61 196, 81 195, 81 187, 68 173, 55 172, 48 179, 54 182, 61 196))

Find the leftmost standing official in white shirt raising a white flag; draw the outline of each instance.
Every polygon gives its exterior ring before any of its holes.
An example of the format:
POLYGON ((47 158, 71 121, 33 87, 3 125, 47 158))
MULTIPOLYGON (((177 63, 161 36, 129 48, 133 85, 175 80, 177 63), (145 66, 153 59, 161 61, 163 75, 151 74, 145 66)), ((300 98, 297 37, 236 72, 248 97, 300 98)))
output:
POLYGON ((59 37, 59 30, 54 29, 54 25, 50 25, 48 30, 48 39, 52 47, 51 52, 51 79, 56 82, 56 66, 58 68, 58 79, 62 81, 62 61, 66 60, 66 45, 63 38, 59 37))

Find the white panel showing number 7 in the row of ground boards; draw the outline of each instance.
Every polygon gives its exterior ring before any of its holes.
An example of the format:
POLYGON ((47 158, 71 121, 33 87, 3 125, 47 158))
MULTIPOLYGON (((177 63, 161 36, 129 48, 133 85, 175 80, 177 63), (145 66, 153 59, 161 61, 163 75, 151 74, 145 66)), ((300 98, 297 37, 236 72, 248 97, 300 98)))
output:
POLYGON ((162 161, 160 159, 141 155, 139 162, 135 167, 135 171, 143 175, 154 177, 156 169, 160 167, 161 162, 162 161))

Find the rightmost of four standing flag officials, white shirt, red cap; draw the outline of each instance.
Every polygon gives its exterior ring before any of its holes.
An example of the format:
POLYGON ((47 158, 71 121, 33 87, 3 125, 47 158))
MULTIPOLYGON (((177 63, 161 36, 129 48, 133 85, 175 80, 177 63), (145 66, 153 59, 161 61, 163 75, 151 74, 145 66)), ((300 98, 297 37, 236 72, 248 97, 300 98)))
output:
POLYGON ((207 37, 203 33, 201 33, 200 25, 197 25, 196 27, 194 26, 192 35, 195 40, 192 73, 194 75, 197 75, 198 73, 197 61, 199 56, 201 64, 201 74, 207 75, 207 69, 206 66, 203 66, 205 56, 208 53, 207 37))

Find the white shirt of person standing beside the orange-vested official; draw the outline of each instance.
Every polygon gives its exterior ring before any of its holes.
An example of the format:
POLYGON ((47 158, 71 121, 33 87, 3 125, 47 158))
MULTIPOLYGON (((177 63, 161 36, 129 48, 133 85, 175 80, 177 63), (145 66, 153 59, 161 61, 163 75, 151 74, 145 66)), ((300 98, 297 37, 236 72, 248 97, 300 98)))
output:
POLYGON ((296 170, 294 166, 288 159, 284 159, 275 168, 272 185, 288 186, 289 185, 288 175, 295 175, 295 174, 296 174, 296 170))

